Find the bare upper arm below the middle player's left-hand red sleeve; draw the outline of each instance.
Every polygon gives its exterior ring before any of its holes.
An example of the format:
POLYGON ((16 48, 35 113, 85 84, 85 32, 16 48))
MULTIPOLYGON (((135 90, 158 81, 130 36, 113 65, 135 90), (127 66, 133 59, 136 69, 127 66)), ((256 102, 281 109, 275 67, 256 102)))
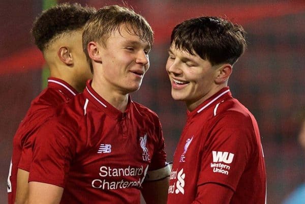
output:
POLYGON ((58 204, 64 188, 41 182, 29 182, 28 204, 58 204))

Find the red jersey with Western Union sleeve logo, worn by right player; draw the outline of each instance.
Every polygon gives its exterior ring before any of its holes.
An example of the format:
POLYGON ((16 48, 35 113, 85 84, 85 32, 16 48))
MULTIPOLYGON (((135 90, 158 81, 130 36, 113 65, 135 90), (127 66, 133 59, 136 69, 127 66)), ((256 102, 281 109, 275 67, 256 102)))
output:
POLYGON ((198 187, 213 183, 234 191, 231 204, 263 204, 263 157, 254 116, 224 88, 188 112, 174 154, 167 203, 195 203, 198 187))

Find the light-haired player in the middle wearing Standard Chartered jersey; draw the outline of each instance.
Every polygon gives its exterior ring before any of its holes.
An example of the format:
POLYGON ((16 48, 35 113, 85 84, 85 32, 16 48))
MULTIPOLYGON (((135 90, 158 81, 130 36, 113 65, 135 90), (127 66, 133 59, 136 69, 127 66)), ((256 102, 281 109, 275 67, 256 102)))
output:
POLYGON ((158 116, 131 100, 149 68, 153 31, 107 6, 85 25, 94 72, 82 94, 37 132, 29 203, 166 203, 170 173, 158 116))

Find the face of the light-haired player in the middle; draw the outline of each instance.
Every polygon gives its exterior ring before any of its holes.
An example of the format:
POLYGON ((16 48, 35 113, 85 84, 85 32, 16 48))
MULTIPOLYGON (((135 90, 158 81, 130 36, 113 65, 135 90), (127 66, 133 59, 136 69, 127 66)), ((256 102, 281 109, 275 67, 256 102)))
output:
POLYGON ((126 94, 137 91, 149 68, 149 43, 129 33, 128 28, 122 25, 106 44, 111 49, 99 45, 103 82, 109 85, 111 92, 126 94))

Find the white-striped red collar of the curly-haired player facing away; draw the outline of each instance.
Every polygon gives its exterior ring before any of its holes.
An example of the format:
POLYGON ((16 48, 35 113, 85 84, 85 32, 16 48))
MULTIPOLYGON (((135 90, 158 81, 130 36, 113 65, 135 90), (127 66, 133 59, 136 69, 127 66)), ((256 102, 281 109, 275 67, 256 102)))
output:
POLYGON ((55 77, 48 78, 48 88, 58 89, 60 92, 63 92, 69 97, 73 97, 78 94, 78 92, 69 83, 55 77))

